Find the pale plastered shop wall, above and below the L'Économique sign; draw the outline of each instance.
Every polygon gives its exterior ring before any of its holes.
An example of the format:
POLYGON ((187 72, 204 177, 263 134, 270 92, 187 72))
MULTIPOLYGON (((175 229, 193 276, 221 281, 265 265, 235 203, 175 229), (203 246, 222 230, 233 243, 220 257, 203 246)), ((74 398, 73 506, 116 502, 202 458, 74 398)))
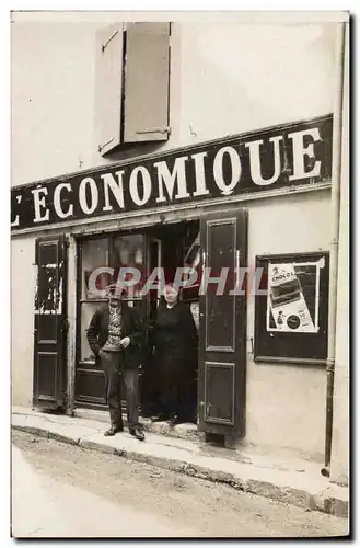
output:
MULTIPOLYGON (((12 184, 333 111, 333 25, 175 23, 169 142, 104 160, 94 147, 94 33, 106 21, 104 13, 86 22, 78 16, 12 23, 12 184)), ((328 249, 329 193, 248 207, 251 262, 266 252, 328 249), (289 231, 288 225, 299 228, 289 231)), ((13 402, 28 404, 33 279, 21 281, 34 261, 34 238, 14 239, 12 254, 13 288, 21 287, 12 304, 13 402)), ((249 301, 249 336, 253 327, 249 301)), ((323 370, 255 365, 249 355, 247 378, 246 441, 323 453, 323 370)))

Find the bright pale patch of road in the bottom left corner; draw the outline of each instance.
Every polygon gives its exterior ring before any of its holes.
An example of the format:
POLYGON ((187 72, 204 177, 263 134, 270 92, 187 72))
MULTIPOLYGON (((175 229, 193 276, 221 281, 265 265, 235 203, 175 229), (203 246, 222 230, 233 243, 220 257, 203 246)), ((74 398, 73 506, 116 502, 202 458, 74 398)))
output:
MULTIPOLYGON (((13 523, 15 537, 169 537, 173 529, 152 514, 107 501, 86 489, 38 472, 13 449, 13 523)), ((179 535, 191 535, 182 530, 179 535)))

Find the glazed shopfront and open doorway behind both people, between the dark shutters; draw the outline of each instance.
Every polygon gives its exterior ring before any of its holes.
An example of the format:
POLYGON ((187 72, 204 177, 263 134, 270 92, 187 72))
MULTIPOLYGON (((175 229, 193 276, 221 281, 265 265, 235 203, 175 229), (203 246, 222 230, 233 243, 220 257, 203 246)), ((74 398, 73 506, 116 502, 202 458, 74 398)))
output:
MULTIPOLYGON (((86 340, 86 330, 96 309, 106 307, 105 287, 116 282, 119 269, 136 267, 148 278, 154 269, 162 269, 165 282, 174 279, 176 269, 185 265, 186 256, 199 233, 199 221, 175 222, 151 227, 147 231, 127 231, 102 237, 82 238, 78 241, 78 306, 77 306, 77 363, 76 406, 106 409, 105 378, 101 364, 92 354, 86 340), (105 266, 105 269, 104 269, 105 266), (96 277, 96 292, 92 293, 91 275, 102 269, 96 277), (107 272, 106 272, 107 269, 107 272), (102 297, 101 292, 104 290, 102 297)), ((143 284, 143 279, 141 282, 143 284)), ((160 285, 147 295, 142 285, 128 290, 128 305, 136 307, 146 324, 143 359, 140 368, 141 414, 153 415, 159 409, 159 367, 153 357, 152 326, 156 321, 162 304, 160 285)), ((197 288, 182 292, 182 300, 193 310, 198 305, 197 288)), ((197 421, 197 355, 191 351, 194 375, 189 381, 187 420, 197 421)), ((125 393, 125 392, 124 392, 125 393)), ((124 402, 125 407, 125 402, 124 402)))

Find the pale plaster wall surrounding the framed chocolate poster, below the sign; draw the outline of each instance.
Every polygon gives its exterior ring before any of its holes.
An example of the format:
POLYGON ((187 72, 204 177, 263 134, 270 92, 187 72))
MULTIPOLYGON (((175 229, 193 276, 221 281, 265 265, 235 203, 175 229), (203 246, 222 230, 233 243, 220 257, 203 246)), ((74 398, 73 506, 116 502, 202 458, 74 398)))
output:
MULTIPOLYGON (((249 206, 248 260, 255 255, 328 250, 329 192, 249 206), (294 228, 297 227, 297 228, 294 228)), ((254 363, 255 298, 247 305, 246 441, 318 455, 325 447, 325 367, 254 363)))

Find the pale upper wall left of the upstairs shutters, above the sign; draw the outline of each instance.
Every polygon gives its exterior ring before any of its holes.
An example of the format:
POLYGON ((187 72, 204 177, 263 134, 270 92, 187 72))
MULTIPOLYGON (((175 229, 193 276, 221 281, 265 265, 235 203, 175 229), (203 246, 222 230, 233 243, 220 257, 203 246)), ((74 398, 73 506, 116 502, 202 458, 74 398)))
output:
POLYGON ((91 165, 95 26, 12 24, 13 185, 91 165))

